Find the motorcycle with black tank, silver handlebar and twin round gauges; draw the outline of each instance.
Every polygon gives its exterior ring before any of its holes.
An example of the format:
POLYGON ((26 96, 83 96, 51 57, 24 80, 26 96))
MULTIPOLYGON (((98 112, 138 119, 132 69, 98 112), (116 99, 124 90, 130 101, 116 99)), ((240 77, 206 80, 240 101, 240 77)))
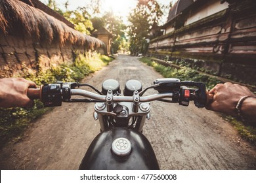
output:
POLYGON ((102 83, 101 92, 89 84, 57 82, 41 88, 29 88, 31 99, 41 99, 45 107, 56 107, 62 102, 95 103, 93 117, 100 123, 100 133, 91 142, 79 169, 160 169, 154 150, 142 130, 150 119, 150 102, 163 101, 188 106, 190 101, 203 108, 212 100, 202 82, 161 78, 142 89, 139 80, 128 80, 123 95, 117 80, 102 83), (96 93, 78 89, 88 86, 96 93), (191 87, 191 88, 188 88, 191 87), (154 95, 143 96, 154 89, 154 95), (73 95, 83 96, 74 99, 73 95))

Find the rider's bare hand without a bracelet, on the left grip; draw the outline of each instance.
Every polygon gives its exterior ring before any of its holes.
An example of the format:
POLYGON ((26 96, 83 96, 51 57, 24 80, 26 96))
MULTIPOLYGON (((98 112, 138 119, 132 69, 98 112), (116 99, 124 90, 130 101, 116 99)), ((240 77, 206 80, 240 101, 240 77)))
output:
POLYGON ((35 83, 24 78, 1 78, 0 107, 33 107, 28 88, 36 88, 35 83))

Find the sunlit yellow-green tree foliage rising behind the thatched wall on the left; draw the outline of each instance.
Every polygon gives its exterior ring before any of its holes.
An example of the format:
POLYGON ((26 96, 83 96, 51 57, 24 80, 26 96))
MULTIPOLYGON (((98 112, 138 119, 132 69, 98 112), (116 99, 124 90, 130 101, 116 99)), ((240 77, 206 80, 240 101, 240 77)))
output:
POLYGON ((105 12, 100 14, 100 7, 102 0, 91 0, 91 3, 86 7, 79 7, 76 10, 68 10, 68 0, 64 3, 66 11, 61 11, 56 6, 55 0, 49 0, 47 4, 53 10, 58 11, 68 21, 75 25, 75 29, 87 35, 91 35, 96 29, 105 27, 112 33, 112 52, 116 53, 119 49, 127 47, 127 40, 125 39, 126 26, 123 24, 120 17, 114 15, 113 12, 105 12), (94 14, 95 17, 92 17, 94 14))

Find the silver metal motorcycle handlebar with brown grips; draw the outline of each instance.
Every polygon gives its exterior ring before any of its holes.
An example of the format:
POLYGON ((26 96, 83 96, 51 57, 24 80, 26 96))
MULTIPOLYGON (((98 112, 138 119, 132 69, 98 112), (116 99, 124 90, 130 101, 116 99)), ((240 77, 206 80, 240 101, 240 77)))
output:
MULTIPOLYGON (((95 99, 96 101, 102 101, 106 102, 106 95, 99 95, 96 93, 88 92, 87 90, 81 90, 81 89, 70 89, 66 90, 66 88, 58 88, 58 93, 47 93, 48 91, 44 91, 43 86, 40 88, 28 88, 28 97, 30 99, 40 99, 41 101, 45 102, 46 99, 45 97, 49 97, 54 100, 58 100, 58 105, 61 105, 62 101, 68 101, 70 97, 67 99, 64 99, 65 93, 68 93, 68 95, 80 95, 83 97, 88 97, 89 99, 95 99), (58 96, 56 96, 58 95, 58 96)), ((186 91, 196 91, 194 89, 189 89, 186 88, 186 91)), ((150 101, 156 101, 160 99, 165 99, 165 98, 173 98, 174 93, 173 92, 165 92, 165 93, 157 93, 154 95, 148 95, 145 97, 139 97, 140 102, 150 102, 150 101)), ((192 96, 194 95, 193 93, 190 93, 190 98, 189 101, 195 100, 195 97, 192 96)), ((207 106, 209 103, 213 101, 213 95, 210 94, 207 90, 205 90, 205 106, 207 106)), ((113 102, 133 102, 134 98, 133 96, 119 96, 119 95, 114 95, 113 96, 113 102)), ((178 101, 179 102, 179 101, 178 101)), ((45 103, 44 103, 45 104, 45 103)), ((181 103, 180 103, 181 104, 181 103)), ((47 105, 51 106, 51 103, 46 104, 45 106, 48 107, 47 105)), ((58 106, 58 105, 52 105, 52 106, 58 106)), ((182 105, 182 104, 181 104, 182 105)), ((205 107, 204 106, 204 107, 205 107)))

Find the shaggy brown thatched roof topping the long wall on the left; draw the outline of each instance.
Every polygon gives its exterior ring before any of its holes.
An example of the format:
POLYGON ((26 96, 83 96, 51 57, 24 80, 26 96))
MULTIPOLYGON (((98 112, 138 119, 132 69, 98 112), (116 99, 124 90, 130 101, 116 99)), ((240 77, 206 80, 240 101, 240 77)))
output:
POLYGON ((39 42, 66 42, 87 48, 100 47, 104 43, 68 27, 42 10, 18 0, 0 1, 0 31, 5 34, 29 36, 39 42))

